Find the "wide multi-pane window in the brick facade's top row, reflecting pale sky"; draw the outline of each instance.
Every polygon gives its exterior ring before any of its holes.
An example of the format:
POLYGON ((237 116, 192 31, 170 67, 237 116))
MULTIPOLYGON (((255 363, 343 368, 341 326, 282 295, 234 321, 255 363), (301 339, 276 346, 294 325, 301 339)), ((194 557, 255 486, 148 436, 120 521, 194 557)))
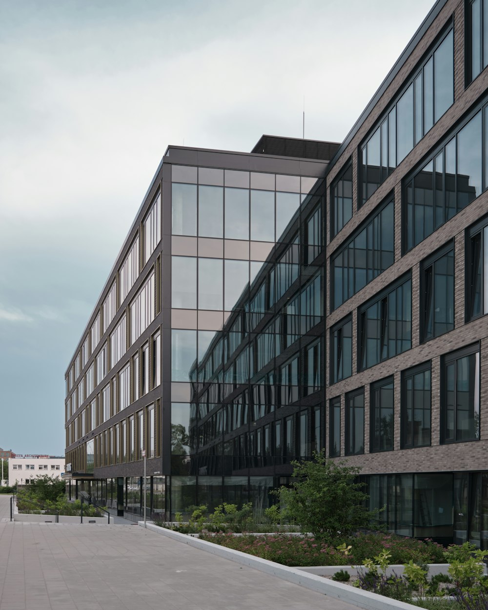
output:
POLYGON ((453 45, 451 27, 362 145, 362 204, 453 104, 453 45))

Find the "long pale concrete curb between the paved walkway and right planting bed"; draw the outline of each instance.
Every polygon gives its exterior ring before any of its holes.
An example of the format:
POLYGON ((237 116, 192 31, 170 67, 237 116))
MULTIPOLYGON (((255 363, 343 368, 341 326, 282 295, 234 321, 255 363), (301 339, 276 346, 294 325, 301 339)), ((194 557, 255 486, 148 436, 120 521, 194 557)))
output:
MULTIPOLYGON (((144 527, 144 522, 139 521, 138 525, 144 527)), ((278 576, 278 578, 282 578, 289 583, 299 584, 302 587, 306 587, 306 589, 323 595, 329 595, 329 597, 345 601, 358 608, 364 608, 365 610, 418 610, 418 606, 407 604, 404 601, 393 600, 383 595, 371 593, 370 591, 356 589, 356 587, 351 587, 347 584, 336 583, 327 578, 304 572, 299 568, 290 568, 286 565, 277 564, 274 561, 268 561, 268 559, 261 559, 260 557, 242 553, 242 551, 221 547, 220 545, 212 544, 212 542, 207 542, 207 540, 199 540, 193 536, 187 536, 187 534, 181 534, 171 529, 153 525, 152 523, 147 523, 146 529, 150 529, 160 534, 160 536, 166 536, 173 540, 178 540, 178 542, 183 542, 189 547, 199 548, 207 551, 207 553, 212 553, 224 559, 230 559, 265 574, 278 576)))

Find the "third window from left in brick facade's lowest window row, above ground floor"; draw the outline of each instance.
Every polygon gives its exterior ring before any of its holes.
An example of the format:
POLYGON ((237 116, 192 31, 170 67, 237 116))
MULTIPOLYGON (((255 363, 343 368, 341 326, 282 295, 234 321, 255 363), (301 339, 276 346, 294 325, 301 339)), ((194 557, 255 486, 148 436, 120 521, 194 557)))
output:
POLYGON ((370 452, 393 450, 393 378, 371 384, 370 452))

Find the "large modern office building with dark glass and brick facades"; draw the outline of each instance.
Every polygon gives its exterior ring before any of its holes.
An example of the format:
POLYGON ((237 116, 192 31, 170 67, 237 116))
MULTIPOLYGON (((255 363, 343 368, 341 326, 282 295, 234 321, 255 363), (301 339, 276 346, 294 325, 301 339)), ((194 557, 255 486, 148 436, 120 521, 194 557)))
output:
MULTIPOLYGON (((340 145, 170 146, 66 371, 70 493, 140 514, 362 468, 488 546, 488 3, 439 0, 340 145)), ((361 66, 358 66, 361 69, 361 66)))

